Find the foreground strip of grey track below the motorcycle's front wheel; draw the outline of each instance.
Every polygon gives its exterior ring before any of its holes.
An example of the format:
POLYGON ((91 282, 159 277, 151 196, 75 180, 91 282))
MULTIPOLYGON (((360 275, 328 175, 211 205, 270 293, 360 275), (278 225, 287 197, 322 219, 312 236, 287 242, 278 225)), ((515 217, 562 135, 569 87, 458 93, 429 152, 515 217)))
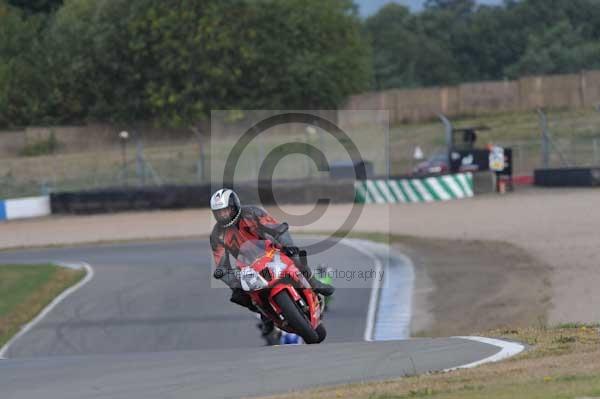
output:
POLYGON ((442 370, 497 352, 410 340, 0 362, 3 399, 238 398, 442 370))

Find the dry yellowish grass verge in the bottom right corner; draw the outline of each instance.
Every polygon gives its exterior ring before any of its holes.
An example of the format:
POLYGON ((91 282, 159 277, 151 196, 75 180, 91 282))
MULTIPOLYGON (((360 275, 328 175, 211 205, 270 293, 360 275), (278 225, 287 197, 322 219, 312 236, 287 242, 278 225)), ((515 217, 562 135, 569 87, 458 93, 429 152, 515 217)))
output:
POLYGON ((274 396, 279 399, 550 399, 600 396, 597 325, 494 330, 485 335, 531 345, 499 363, 450 373, 352 384, 274 396))

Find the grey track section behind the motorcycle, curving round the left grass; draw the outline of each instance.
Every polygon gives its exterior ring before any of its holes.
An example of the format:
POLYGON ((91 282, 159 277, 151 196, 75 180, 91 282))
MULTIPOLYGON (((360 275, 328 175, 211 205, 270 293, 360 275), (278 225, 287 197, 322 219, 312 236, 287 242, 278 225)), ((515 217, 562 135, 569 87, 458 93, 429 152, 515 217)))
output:
MULTIPOLYGON (((95 272, 6 357, 262 346, 253 314, 230 303, 230 290, 211 281, 211 256, 206 240, 1 252, 0 264, 84 261, 95 272)), ((343 270, 373 267, 370 258, 342 244, 309 259, 343 270)), ((371 282, 339 280, 336 286, 327 342, 361 341, 371 282)))

